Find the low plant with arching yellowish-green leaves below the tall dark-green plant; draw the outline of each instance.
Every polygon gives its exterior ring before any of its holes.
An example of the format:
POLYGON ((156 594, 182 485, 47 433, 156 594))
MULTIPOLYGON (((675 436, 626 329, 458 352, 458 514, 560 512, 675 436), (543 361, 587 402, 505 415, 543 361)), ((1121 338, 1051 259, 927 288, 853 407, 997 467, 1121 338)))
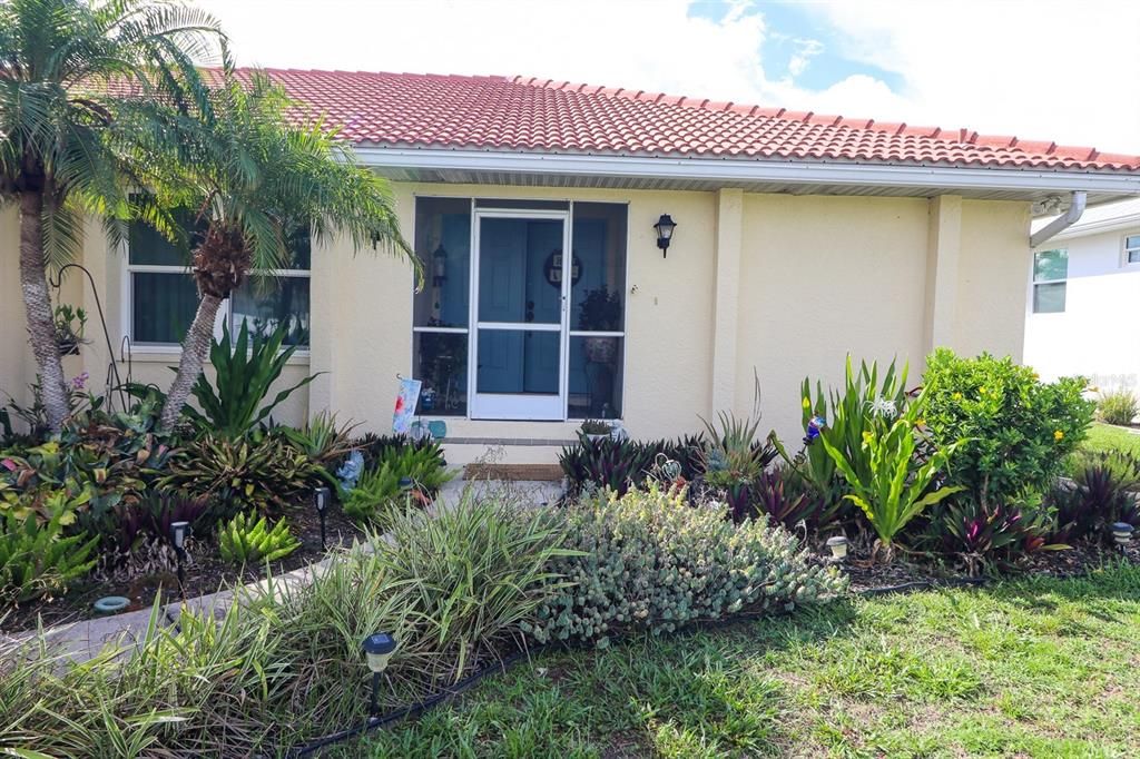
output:
POLYGON ((304 491, 317 466, 277 434, 229 440, 204 434, 180 449, 158 480, 168 490, 209 497, 222 517, 279 512, 304 491))

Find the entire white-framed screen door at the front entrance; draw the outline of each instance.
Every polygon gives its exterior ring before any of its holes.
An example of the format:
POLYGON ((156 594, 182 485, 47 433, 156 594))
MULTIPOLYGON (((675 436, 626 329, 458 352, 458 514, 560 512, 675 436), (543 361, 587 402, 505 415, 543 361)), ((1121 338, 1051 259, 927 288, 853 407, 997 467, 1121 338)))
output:
POLYGON ((565 418, 570 214, 477 210, 471 417, 565 418))

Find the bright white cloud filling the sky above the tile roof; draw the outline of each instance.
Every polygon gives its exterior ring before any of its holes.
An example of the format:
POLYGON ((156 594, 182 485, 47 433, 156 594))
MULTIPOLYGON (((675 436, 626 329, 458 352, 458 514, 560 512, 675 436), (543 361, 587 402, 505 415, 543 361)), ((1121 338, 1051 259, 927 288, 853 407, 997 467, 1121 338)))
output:
MULTIPOLYGON (((806 6, 840 30, 854 60, 898 72, 902 92, 866 75, 823 91, 766 74, 775 32, 763 6, 735 0, 718 22, 685 0, 198 0, 229 30, 238 59, 294 68, 527 74, 759 103, 1140 153, 1140 3, 850 2, 806 6)), ((828 39, 828 38, 825 38, 828 39)))

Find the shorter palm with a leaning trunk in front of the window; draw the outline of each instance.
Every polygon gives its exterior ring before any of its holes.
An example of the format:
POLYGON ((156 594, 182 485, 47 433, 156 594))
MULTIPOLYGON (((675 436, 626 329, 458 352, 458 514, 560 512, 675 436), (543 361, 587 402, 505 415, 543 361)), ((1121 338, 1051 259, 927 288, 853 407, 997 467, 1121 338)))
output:
POLYGON ((162 409, 170 429, 202 374, 222 301, 251 270, 287 268, 293 232, 308 228, 314 242, 339 234, 356 251, 382 246, 417 270, 418 260, 400 235, 388 182, 320 121, 291 125, 304 114, 263 74, 226 75, 205 114, 154 107, 169 120, 156 140, 178 134, 180 147, 148 178, 153 195, 140 207, 155 215, 189 209, 204 229, 192 251, 198 308, 162 409))

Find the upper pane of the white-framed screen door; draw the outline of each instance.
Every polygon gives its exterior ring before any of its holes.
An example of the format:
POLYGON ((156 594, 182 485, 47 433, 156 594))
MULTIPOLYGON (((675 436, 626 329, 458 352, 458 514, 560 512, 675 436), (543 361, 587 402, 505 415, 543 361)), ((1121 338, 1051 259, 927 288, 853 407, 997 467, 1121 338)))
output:
POLYGON ((480 221, 480 321, 561 321, 562 230, 551 219, 480 221))

